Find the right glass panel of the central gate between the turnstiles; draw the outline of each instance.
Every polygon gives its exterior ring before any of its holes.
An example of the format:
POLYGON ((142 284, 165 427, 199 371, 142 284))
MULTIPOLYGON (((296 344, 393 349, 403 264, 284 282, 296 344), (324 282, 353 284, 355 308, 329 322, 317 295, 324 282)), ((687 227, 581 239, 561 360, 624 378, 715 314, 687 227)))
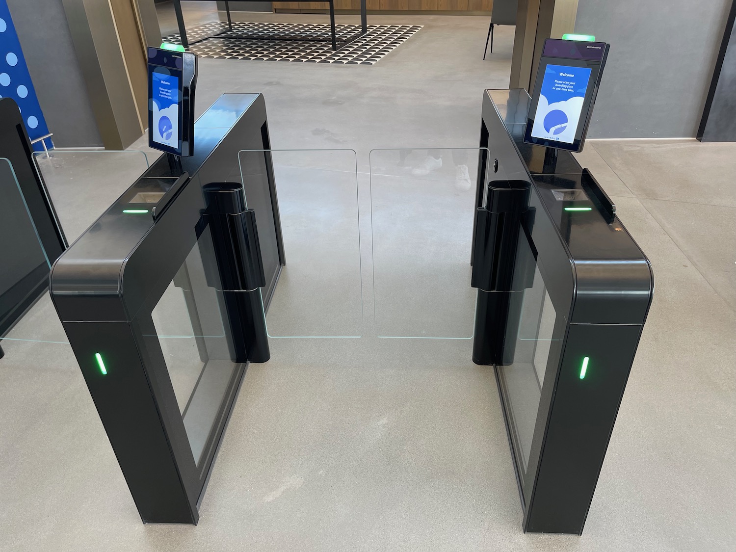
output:
POLYGON ((473 338, 470 255, 484 155, 478 148, 370 152, 378 336, 473 338))

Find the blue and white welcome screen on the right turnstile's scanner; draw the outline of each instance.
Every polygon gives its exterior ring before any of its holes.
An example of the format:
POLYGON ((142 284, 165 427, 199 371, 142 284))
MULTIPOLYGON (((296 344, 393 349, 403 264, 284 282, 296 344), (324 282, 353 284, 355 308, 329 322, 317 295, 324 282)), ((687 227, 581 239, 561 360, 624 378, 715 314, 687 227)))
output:
POLYGON ((590 68, 548 65, 531 135, 573 144, 589 80, 590 68))

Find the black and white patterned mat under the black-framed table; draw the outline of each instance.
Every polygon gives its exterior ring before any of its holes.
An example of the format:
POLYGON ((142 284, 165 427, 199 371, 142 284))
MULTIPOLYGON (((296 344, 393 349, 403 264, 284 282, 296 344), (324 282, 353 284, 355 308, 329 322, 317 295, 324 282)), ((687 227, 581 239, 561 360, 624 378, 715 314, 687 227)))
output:
MULTIPOLYGON (((365 35, 337 52, 332 51, 331 42, 293 40, 294 38, 328 40, 329 25, 233 21, 233 30, 230 31, 227 29, 227 23, 215 22, 187 29, 186 34, 190 43, 220 32, 227 35, 248 36, 247 39, 214 37, 189 47, 189 52, 211 59, 373 65, 421 28, 422 25, 369 25, 365 35), (280 40, 272 40, 273 37, 280 40)), ((338 46, 341 40, 357 35, 358 32, 360 32, 359 25, 337 25, 338 46)), ((163 41, 181 43, 178 34, 166 36, 163 41)))

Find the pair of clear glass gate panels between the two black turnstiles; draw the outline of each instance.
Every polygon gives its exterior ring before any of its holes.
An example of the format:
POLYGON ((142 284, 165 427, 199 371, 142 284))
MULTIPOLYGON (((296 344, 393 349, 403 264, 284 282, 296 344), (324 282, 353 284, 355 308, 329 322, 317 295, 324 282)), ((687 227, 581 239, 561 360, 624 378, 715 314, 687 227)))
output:
POLYGON ((269 338, 473 339, 480 154, 374 149, 359 173, 350 149, 239 152, 242 167, 267 155, 277 183, 286 262, 264 302, 269 338))

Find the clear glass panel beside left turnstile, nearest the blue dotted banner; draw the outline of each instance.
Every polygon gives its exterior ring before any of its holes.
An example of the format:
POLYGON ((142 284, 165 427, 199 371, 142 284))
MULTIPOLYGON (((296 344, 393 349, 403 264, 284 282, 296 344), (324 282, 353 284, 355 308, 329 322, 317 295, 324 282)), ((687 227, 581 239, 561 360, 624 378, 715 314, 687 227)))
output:
POLYGON ((145 152, 52 149, 33 158, 69 244, 148 168, 145 152))

